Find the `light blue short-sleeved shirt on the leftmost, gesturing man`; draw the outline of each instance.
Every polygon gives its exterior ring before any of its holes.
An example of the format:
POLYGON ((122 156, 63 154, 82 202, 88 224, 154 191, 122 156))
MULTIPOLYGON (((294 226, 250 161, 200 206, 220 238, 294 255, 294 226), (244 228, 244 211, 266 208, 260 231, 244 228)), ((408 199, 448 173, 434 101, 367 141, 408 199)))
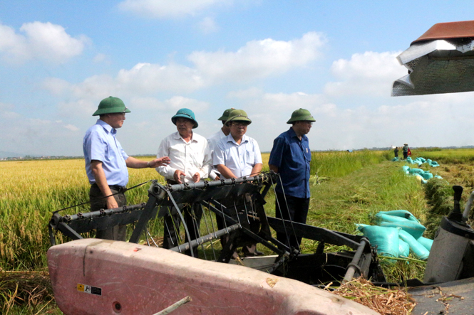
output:
POLYGON ((117 130, 101 119, 87 130, 83 140, 83 151, 89 183, 96 183, 91 170, 91 161, 97 160, 102 162, 108 185, 127 185, 128 169, 125 160, 128 159, 128 155, 123 151, 120 142, 115 139, 116 133, 117 130))

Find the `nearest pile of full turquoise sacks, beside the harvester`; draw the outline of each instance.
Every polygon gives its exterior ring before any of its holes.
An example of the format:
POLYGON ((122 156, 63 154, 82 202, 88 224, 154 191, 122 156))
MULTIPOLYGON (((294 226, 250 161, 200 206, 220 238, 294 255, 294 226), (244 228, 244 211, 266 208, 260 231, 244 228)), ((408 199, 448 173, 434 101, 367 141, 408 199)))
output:
POLYGON ((419 260, 427 260, 433 240, 423 237, 426 228, 407 210, 381 211, 377 225, 360 224, 357 229, 369 238, 378 252, 389 257, 408 257, 410 251, 419 260))

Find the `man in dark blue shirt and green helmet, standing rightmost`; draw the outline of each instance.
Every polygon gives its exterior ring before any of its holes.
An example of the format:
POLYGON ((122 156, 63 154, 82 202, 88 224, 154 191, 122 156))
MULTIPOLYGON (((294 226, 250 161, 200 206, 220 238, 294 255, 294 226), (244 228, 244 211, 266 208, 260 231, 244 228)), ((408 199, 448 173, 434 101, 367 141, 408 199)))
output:
MULTIPOLYGON (((309 167, 311 150, 306 134, 316 119, 308 110, 300 108, 292 113, 286 132, 274 139, 268 161, 269 169, 279 173, 281 181, 275 187, 275 214, 277 218, 306 223, 309 209, 309 167)), ((292 233, 292 230, 288 230, 292 233)), ((277 233, 277 240, 299 250, 301 237, 277 233)))

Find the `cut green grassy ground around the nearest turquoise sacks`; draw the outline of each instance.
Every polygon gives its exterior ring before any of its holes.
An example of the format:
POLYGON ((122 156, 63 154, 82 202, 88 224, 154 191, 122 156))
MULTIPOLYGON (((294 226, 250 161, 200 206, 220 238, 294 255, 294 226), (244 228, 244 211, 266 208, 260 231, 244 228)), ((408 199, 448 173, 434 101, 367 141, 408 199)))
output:
MULTIPOLYGON (((371 219, 379 211, 400 209, 410 211, 423 223, 427 210, 423 186, 400 169, 399 164, 386 161, 315 185, 311 189, 307 223, 356 234, 356 224, 373 224, 371 219)), ((306 252, 314 252, 316 246, 317 242, 310 240, 304 240, 302 244, 306 252)), ((326 250, 339 249, 327 247, 326 250)), ((385 259, 381 261, 388 281, 423 279, 425 262, 398 260, 393 264, 385 259)))

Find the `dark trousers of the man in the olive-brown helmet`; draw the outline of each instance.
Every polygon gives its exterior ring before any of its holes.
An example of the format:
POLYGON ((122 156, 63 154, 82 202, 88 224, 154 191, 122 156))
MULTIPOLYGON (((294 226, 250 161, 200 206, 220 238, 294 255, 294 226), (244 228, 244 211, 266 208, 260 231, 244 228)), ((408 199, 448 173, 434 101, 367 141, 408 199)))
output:
MULTIPOLYGON (((247 209, 247 213, 251 214, 252 211, 252 198, 249 194, 245 194, 242 196, 238 196, 237 198, 226 198, 225 200, 220 201, 222 205, 224 205, 228 210, 230 210, 231 217, 237 220, 237 211, 242 212, 247 209)), ((260 228, 260 221, 255 219, 254 217, 257 216, 256 214, 252 214, 252 218, 241 222, 241 224, 254 233, 258 233, 260 228)), ((222 230, 227 225, 224 225, 224 219, 220 218, 220 216, 216 215, 217 221, 217 228, 222 230)), ((223 235, 220 237, 220 243, 222 244, 222 248, 227 244, 227 240, 229 240, 229 235, 223 235)), ((253 239, 243 240, 241 244, 242 252, 244 253, 244 257, 254 257, 255 250, 257 249, 257 242, 253 239)), ((234 254, 234 258, 237 258, 237 253, 234 254)))

